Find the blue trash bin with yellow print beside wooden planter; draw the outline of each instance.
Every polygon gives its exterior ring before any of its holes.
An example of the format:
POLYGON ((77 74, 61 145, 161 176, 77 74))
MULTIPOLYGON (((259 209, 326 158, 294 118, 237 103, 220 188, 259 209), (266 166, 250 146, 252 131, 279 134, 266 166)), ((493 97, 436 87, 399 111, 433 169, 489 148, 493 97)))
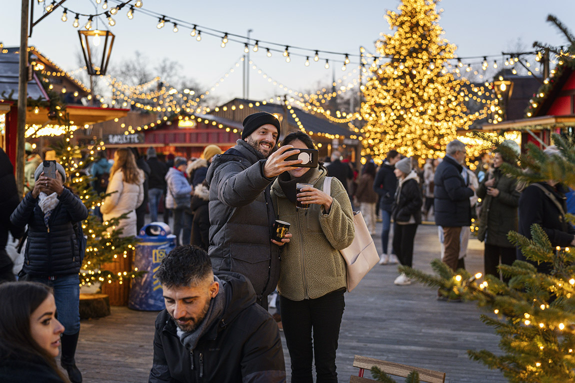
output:
POLYGON ((176 247, 176 236, 171 234, 170 226, 164 222, 152 222, 145 225, 137 236, 134 267, 147 272, 132 280, 128 307, 141 311, 164 310, 162 285, 154 275, 166 254, 176 247))

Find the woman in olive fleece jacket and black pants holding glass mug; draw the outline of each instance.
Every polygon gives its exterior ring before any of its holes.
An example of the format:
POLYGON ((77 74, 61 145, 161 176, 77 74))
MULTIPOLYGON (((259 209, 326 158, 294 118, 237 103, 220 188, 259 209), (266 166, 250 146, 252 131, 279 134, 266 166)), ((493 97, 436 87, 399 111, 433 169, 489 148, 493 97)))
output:
MULTIPOLYGON (((302 131, 288 134, 282 145, 315 149, 302 131)), ((283 332, 292 362, 292 382, 337 382, 335 354, 344 310, 346 264, 338 250, 354 239, 353 212, 346 189, 331 180, 331 195, 323 192, 327 171, 293 168, 271 187, 278 219, 289 222, 293 237, 282 247, 278 292, 283 332), (296 183, 313 184, 296 194, 296 183), (296 199, 309 204, 296 208, 296 199), (312 331, 313 330, 313 331, 312 331), (313 343, 312 343, 313 334, 313 343)))

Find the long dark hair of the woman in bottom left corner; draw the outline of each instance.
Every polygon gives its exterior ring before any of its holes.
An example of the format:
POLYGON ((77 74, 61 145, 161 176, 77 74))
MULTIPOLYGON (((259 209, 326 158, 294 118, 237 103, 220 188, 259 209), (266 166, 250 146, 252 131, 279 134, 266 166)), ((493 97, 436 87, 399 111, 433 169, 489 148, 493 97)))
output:
POLYGON ((52 294, 47 285, 36 282, 0 284, 0 360, 18 359, 45 363, 64 382, 55 359, 32 338, 30 316, 52 294))

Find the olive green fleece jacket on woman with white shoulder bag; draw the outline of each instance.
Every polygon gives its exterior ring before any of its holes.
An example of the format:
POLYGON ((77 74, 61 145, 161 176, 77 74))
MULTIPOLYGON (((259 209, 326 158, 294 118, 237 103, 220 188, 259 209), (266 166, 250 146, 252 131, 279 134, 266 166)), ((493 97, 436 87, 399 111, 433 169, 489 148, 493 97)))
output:
MULTIPOLYGON (((310 181, 323 190, 325 169, 310 181)), ((291 223, 293 235, 281 247, 278 292, 290 300, 315 299, 346 287, 346 261, 339 253, 351 245, 355 229, 350 199, 342 183, 331 180, 333 203, 329 213, 324 208, 310 205, 308 211, 297 210, 283 193, 276 179, 271 187, 271 198, 278 219, 291 223)))

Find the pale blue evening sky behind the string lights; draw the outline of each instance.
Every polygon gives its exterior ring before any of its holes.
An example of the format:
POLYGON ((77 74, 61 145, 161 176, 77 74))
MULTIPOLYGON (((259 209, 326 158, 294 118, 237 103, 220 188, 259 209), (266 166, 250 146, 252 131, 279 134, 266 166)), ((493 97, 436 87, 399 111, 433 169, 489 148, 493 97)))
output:
MULTIPOLYGON (((34 0, 36 2, 36 0, 34 0)), ((103 2, 103 0, 102 0, 103 2)), ((94 2, 89 0, 68 0, 64 5, 74 11, 94 13, 94 2)), ((110 5, 114 2, 110 0, 110 5)), ((229 33, 246 35, 252 29, 252 38, 273 41, 280 44, 322 49, 324 51, 357 53, 364 45, 373 51, 373 42, 379 32, 388 32, 384 19, 386 9, 395 9, 397 0, 375 2, 351 1, 175 1, 144 0, 144 9, 177 17, 193 24, 223 30, 229 33)), ((444 9, 440 25, 445 37, 458 46, 458 55, 485 56, 499 55, 501 51, 515 49, 517 40, 524 48, 531 49, 534 40, 553 45, 566 44, 562 34, 548 22, 547 14, 559 17, 575 32, 575 1, 565 0, 443 0, 439 7, 444 9)), ((101 11, 101 6, 99 6, 101 11)), ((183 75, 195 78, 202 86, 212 86, 243 55, 243 45, 228 42, 220 47, 221 38, 203 36, 198 42, 190 37, 190 30, 180 28, 172 32, 173 26, 166 25, 158 30, 157 19, 135 13, 128 20, 122 9, 114 16, 117 24, 110 28, 116 34, 116 44, 112 52, 111 64, 122 59, 130 59, 133 52, 143 52, 156 63, 163 57, 179 61, 183 75)), ((0 41, 6 46, 18 46, 20 37, 20 1, 2 0, 2 23, 0 41)), ((29 44, 35 45, 46 56, 65 69, 78 67, 76 53, 79 40, 72 27, 74 15, 68 11, 68 21, 60 20, 62 9, 47 17, 34 28, 29 44)), ((105 20, 105 18, 104 18, 105 20)), ((81 18, 81 25, 86 18, 81 18)), ((100 23, 102 29, 102 23, 100 23)), ((260 44, 262 46, 264 44, 260 44)), ((327 57, 327 56, 326 56, 327 57)), ((332 56, 333 57, 333 56, 332 56)), ((263 49, 251 52, 254 60, 272 78, 294 90, 313 88, 318 82, 331 82, 333 69, 324 68, 325 60, 312 61, 304 66, 305 58, 292 57, 285 62, 281 53, 274 52, 266 57, 263 49)), ((474 60, 480 62, 480 60, 474 60)), ((464 61, 465 62, 465 61, 464 61)), ((498 59, 501 62, 501 59, 498 59)), ((335 65, 336 77, 346 72, 335 65)), ((251 71, 250 97, 264 99, 283 94, 283 91, 251 71)), ((241 68, 232 73, 214 92, 221 101, 242 95, 241 68)))

